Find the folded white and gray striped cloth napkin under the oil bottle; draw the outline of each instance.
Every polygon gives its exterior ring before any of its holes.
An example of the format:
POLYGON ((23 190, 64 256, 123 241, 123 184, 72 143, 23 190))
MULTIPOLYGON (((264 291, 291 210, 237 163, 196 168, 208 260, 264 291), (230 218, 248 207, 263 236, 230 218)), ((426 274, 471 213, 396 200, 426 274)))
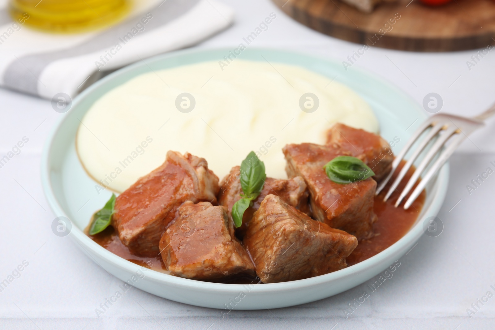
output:
POLYGON ((121 23, 73 35, 32 30, 0 3, 0 86, 48 99, 73 97, 105 71, 192 46, 234 20, 233 10, 216 0, 137 2, 121 23))

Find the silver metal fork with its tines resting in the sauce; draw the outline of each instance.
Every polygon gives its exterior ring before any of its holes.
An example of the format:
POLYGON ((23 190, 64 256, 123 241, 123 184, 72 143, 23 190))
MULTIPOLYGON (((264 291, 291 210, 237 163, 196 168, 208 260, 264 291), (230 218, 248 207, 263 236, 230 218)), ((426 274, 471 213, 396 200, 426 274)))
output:
POLYGON ((392 162, 392 170, 385 180, 383 180, 380 185, 376 189, 376 194, 378 195, 380 191, 382 191, 389 180, 392 178, 392 175, 397 170, 401 160, 404 158, 407 151, 411 148, 411 146, 419 140, 419 137, 428 130, 426 137, 420 141, 416 150, 414 150, 413 154, 409 158, 409 160, 405 163, 405 165, 400 170, 397 178, 390 187, 389 191, 385 195, 384 201, 389 199, 390 195, 397 189, 397 186, 402 181, 407 171, 411 168, 412 164, 416 160, 416 158, 420 155, 420 153, 425 149, 428 143, 434 139, 437 139, 432 147, 428 150, 425 157, 419 164, 419 166, 414 171, 413 175, 407 182, 405 188, 400 191, 400 196, 396 201, 395 206, 399 206, 402 200, 407 196, 409 191, 413 188, 416 181, 420 178, 421 174, 433 160, 437 153, 439 154, 437 160, 433 163, 430 169, 426 172, 426 174, 421 178, 420 183, 411 193, 409 198, 404 204, 404 209, 407 210, 409 206, 416 200, 421 191, 425 189, 428 182, 433 178, 433 176, 440 170, 440 168, 445 164, 450 155, 454 152, 455 149, 464 141, 468 135, 473 133, 478 128, 485 125, 484 120, 493 116, 495 114, 495 104, 492 105, 490 109, 483 112, 482 114, 473 117, 473 118, 464 118, 454 115, 448 114, 437 114, 429 119, 427 119, 417 130, 414 132, 413 136, 405 147, 400 151, 400 153, 396 156, 394 161, 392 162), (441 150, 447 141, 450 143, 441 150))

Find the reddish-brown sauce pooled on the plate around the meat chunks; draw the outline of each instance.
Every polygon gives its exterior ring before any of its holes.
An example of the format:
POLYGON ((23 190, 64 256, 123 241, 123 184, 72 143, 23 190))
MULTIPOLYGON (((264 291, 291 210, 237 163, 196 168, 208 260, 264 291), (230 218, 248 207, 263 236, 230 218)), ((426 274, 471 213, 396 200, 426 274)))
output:
MULTIPOLYGON (((404 164, 405 161, 402 161, 399 165, 399 169, 404 164)), ((406 176, 398 186, 397 190, 400 191, 404 188, 405 184, 412 176, 414 170, 414 167, 409 169, 406 176)), ((398 172, 399 171, 396 171, 396 174, 398 172)), ((395 179, 396 174, 394 174, 393 179, 395 179)), ((391 182, 393 182, 393 180, 391 180, 391 182)), ((416 219, 418 218, 418 215, 421 212, 421 209, 425 202, 426 192, 423 191, 414 201, 412 206, 408 210, 404 210, 402 207, 404 202, 402 202, 402 204, 397 208, 394 206, 399 196, 399 193, 397 191, 392 194, 389 200, 387 200, 386 202, 383 201, 383 197, 387 193, 389 187, 390 184, 388 184, 378 196, 375 196, 374 211, 378 216, 378 220, 373 224, 373 231, 375 233, 375 236, 359 242, 354 251, 347 257, 348 265, 355 265, 385 250, 387 247, 391 246, 402 236, 404 236, 412 227, 414 222, 416 222, 416 219)), ((88 229, 86 230, 86 233, 88 233, 88 229)), ((99 245, 103 246, 105 249, 118 255, 121 258, 157 272, 170 274, 167 271, 161 256, 158 255, 154 258, 150 258, 139 257, 132 254, 131 251, 129 251, 129 248, 122 244, 116 231, 111 226, 109 226, 103 232, 90 237, 99 245)), ((254 284, 259 283, 259 279, 252 278, 250 276, 238 276, 226 278, 223 280, 217 280, 214 282, 254 284)))

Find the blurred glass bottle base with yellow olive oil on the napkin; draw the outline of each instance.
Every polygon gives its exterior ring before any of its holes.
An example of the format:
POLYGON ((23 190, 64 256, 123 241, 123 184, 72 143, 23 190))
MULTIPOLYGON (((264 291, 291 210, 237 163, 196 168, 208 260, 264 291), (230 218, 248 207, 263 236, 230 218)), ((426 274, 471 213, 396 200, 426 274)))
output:
POLYGON ((10 14, 32 28, 78 33, 110 27, 122 19, 131 0, 10 0, 10 14))

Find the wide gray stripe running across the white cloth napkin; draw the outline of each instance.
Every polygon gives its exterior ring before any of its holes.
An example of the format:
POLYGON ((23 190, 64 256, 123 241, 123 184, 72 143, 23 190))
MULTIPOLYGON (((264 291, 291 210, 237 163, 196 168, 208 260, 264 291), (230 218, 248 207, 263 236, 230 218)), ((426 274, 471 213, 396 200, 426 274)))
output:
MULTIPOLYGON (((199 0, 166 0, 153 9, 152 19, 145 25, 145 30, 137 33, 137 36, 159 28, 170 21, 182 16, 199 0)), ((38 94, 38 79, 43 70, 53 61, 58 59, 80 56, 106 47, 114 46, 119 38, 129 33, 136 24, 145 17, 146 13, 136 15, 123 23, 104 30, 94 38, 83 42, 73 48, 56 50, 46 53, 30 54, 13 60, 3 74, 5 87, 29 94, 38 94)), ((104 53, 102 53, 104 55, 104 53)), ((96 66, 95 66, 96 70, 96 66)))

